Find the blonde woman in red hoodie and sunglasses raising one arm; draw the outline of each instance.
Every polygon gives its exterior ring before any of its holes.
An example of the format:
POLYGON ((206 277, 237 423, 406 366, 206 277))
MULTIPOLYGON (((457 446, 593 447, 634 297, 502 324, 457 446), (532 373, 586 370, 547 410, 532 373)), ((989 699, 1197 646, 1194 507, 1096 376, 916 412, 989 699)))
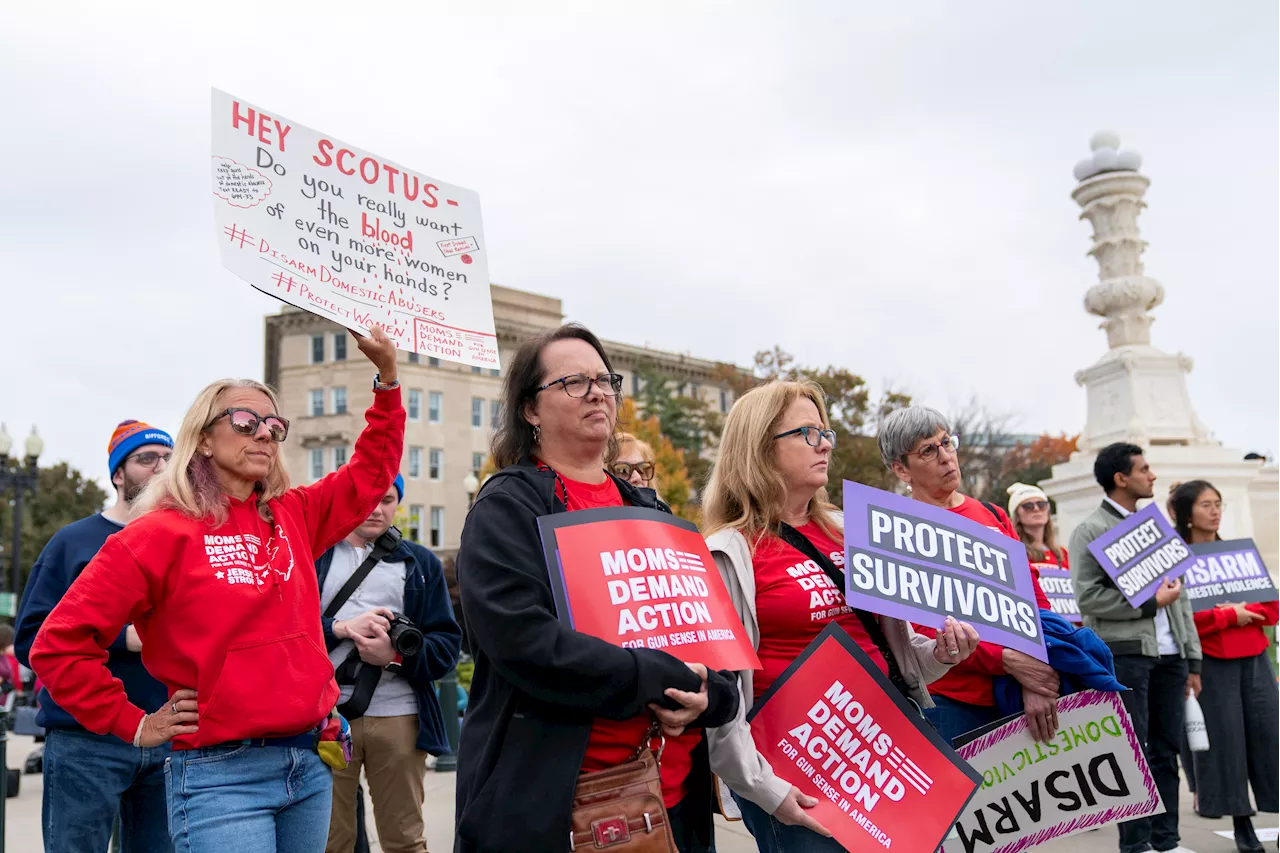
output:
POLYGON ((143 749, 173 742, 165 781, 179 853, 324 849, 333 779, 316 742, 338 686, 312 566, 369 517, 404 443, 396 347, 378 328, 357 346, 379 373, 349 464, 289 488, 275 394, 215 382, 187 411, 140 517, 108 539, 32 647, 45 686, 86 729, 143 749), (108 640, 129 622, 169 689, 155 713, 106 669, 108 640))

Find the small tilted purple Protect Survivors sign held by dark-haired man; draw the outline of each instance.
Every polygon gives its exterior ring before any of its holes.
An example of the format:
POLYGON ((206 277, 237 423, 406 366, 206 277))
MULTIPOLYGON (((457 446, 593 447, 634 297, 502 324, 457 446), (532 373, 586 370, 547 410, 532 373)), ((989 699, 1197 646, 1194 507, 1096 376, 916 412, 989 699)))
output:
POLYGON ((1091 542, 1089 553, 1134 607, 1155 596, 1165 580, 1187 571, 1193 561, 1190 548, 1155 503, 1091 542))

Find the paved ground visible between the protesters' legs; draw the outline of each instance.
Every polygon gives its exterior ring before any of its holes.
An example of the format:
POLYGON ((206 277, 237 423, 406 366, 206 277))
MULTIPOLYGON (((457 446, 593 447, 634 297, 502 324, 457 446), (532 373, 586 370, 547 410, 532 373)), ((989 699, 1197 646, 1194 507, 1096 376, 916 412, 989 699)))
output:
MULTIPOLYGON (((33 743, 31 738, 10 735, 9 766, 22 767, 33 743)), ((8 802, 5 812, 6 853, 35 853, 41 849, 40 798, 41 777, 23 776, 18 797, 8 802)), ((434 853, 449 853, 453 849, 453 774, 428 772, 426 777, 426 818, 428 848, 434 853)), ((372 816, 372 812, 369 812, 372 816)), ((1192 813, 1190 794, 1183 792, 1181 804, 1183 844, 1197 853, 1233 853, 1235 844, 1213 835, 1215 830, 1230 830, 1230 820, 1208 821, 1192 813)), ((1274 816, 1260 816, 1256 826, 1275 826, 1274 816)), ((370 826, 370 831, 375 831, 370 826)), ((372 848, 379 850, 376 839, 370 839, 372 848)), ((955 845, 951 845, 955 847, 955 845)), ((755 843, 741 824, 719 821, 716 830, 716 849, 719 853, 754 853, 755 843)), ((1116 849, 1116 831, 1105 827, 1084 833, 1069 839, 1051 841, 1037 850, 1044 853, 1110 853, 1116 849)), ((1268 845, 1267 849, 1276 849, 1268 845)), ((87 850, 86 853, 95 853, 87 850)), ((101 853, 106 853, 105 850, 101 853)), ((901 853, 916 853, 904 850, 901 853)))

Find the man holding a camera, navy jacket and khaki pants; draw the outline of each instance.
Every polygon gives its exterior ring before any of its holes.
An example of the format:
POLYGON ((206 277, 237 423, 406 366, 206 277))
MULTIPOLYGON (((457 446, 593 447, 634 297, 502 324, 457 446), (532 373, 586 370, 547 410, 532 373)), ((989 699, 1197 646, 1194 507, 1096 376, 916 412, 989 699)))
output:
POLYGON ((355 848, 361 767, 381 849, 425 853, 426 753, 449 751, 433 681, 453 669, 462 635, 440 561, 392 526, 403 497, 397 475, 369 519, 316 561, 338 711, 353 747, 351 765, 333 775, 326 853, 355 848))

